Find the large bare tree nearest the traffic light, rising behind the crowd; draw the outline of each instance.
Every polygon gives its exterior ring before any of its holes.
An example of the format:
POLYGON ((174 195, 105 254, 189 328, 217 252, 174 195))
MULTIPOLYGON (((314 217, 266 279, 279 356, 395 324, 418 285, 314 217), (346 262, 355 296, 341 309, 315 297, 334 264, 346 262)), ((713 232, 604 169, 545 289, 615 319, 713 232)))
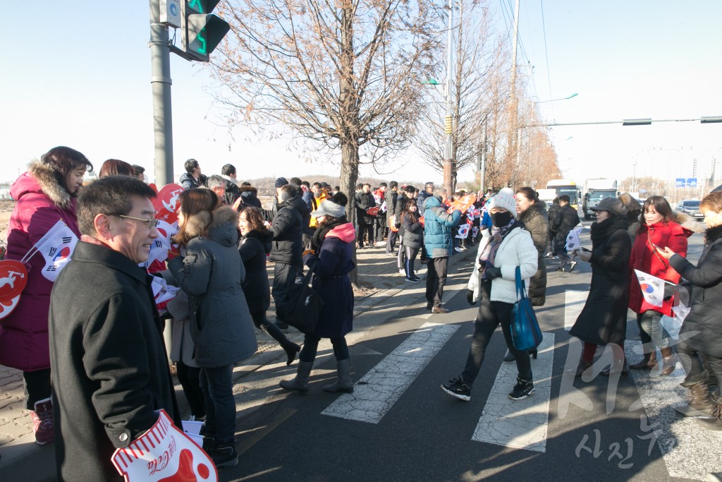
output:
POLYGON ((438 53, 432 1, 226 0, 219 11, 231 30, 212 68, 230 125, 281 123, 340 150, 353 222, 360 163, 408 147, 414 134, 419 77, 438 53))

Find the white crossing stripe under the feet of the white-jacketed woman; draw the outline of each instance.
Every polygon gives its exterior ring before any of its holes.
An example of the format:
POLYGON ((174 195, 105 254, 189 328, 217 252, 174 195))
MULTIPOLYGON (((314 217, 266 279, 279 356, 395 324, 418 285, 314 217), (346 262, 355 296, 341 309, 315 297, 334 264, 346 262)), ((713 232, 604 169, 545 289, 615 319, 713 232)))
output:
POLYGON ((534 395, 524 400, 509 400, 508 393, 516 384, 518 372, 516 363, 502 363, 471 440, 547 452, 547 425, 554 363, 553 333, 544 333, 537 352, 539 358, 531 360, 534 395))

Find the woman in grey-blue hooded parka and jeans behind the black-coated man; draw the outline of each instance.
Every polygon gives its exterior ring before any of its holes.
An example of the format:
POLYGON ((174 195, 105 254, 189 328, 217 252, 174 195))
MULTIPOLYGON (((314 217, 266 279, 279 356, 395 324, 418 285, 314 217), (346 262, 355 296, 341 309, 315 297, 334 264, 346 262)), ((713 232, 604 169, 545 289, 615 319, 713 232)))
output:
POLYGON ((180 202, 174 241, 181 256, 170 259, 168 269, 188 294, 206 405, 204 448, 217 467, 236 465, 233 366, 258 346, 241 288, 245 269, 238 255, 238 212, 205 188, 183 191, 180 202))

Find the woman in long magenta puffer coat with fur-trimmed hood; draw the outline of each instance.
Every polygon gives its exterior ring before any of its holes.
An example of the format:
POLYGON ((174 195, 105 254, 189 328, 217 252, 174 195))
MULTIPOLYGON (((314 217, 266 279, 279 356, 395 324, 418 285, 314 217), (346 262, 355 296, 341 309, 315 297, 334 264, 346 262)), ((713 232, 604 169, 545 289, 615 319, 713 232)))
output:
MULTIPOLYGON (((17 204, 10 215, 5 259, 20 260, 62 220, 80 237, 75 214, 83 176, 92 164, 77 150, 53 147, 30 163, 10 188, 17 204)), ((27 285, 14 311, 0 324, 0 364, 22 370, 25 408, 30 410, 35 443, 55 440, 51 400, 48 310, 53 282, 43 276, 45 258, 36 251, 25 264, 27 285)))

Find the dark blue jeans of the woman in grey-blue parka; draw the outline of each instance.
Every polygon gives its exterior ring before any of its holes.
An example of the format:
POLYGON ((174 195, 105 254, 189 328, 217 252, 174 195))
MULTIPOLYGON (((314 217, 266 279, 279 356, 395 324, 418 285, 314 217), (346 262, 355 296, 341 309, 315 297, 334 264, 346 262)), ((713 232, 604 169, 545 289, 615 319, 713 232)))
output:
POLYGON ((235 438, 235 400, 231 375, 233 366, 201 369, 201 390, 206 403, 206 434, 217 444, 235 438))

